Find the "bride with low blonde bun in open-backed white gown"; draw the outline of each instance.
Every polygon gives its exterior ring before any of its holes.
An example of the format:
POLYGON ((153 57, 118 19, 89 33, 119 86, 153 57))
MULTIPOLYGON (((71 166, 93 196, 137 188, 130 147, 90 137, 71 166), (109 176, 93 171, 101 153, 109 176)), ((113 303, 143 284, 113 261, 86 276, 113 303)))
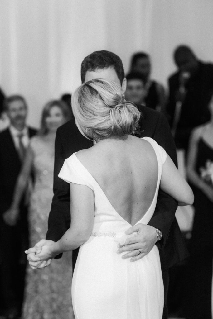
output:
POLYGON ((161 146, 131 135, 140 113, 114 82, 82 84, 72 110, 80 132, 96 144, 65 160, 58 176, 70 183, 71 226, 37 255, 45 261, 80 246, 72 280, 76 319, 161 319, 157 246, 135 262, 122 259, 118 247, 130 226, 149 222, 159 187, 179 205, 193 203, 192 190, 161 146))

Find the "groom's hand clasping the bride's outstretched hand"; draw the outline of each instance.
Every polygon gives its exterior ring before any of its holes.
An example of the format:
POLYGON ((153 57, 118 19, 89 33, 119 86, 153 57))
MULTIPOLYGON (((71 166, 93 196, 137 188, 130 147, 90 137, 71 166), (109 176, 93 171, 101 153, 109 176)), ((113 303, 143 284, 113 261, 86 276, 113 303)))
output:
POLYGON ((51 259, 42 261, 38 254, 41 253, 44 245, 52 245, 53 243, 54 241, 42 239, 34 247, 25 251, 27 254, 27 260, 29 261, 29 265, 32 269, 44 269, 50 265, 51 259))

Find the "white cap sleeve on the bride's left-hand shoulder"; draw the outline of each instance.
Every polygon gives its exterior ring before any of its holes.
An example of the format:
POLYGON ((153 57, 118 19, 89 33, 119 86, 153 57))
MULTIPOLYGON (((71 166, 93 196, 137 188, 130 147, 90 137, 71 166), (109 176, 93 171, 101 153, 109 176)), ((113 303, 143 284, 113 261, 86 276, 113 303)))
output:
POLYGON ((81 172, 78 172, 73 165, 72 156, 68 159, 65 159, 65 162, 58 174, 58 177, 63 179, 67 183, 75 183, 80 185, 87 185, 87 182, 82 178, 81 172))

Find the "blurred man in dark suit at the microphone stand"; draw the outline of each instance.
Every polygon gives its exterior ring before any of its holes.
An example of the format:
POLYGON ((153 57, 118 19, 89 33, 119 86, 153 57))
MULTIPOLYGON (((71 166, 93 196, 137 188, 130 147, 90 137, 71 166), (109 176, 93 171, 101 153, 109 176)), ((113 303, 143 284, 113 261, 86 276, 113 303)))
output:
POLYGON ((192 129, 209 121, 208 95, 213 83, 213 64, 203 63, 181 45, 174 51, 178 71, 169 78, 171 130, 178 149, 187 151, 192 129))

